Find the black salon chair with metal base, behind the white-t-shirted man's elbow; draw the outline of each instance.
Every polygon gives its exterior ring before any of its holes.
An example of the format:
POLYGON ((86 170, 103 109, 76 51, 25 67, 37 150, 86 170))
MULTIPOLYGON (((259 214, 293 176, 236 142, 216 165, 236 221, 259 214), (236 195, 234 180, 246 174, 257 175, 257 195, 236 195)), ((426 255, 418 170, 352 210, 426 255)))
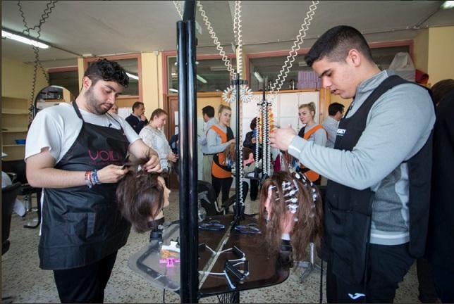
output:
POLYGON ((32 211, 32 194, 37 195, 37 224, 25 224, 25 228, 36 228, 41 224, 41 188, 30 186, 27 182, 27 175, 25 172, 25 160, 5 160, 1 162, 1 167, 4 172, 14 173, 16 179, 13 182, 20 182, 20 189, 18 195, 23 196, 25 208, 27 212, 32 211))

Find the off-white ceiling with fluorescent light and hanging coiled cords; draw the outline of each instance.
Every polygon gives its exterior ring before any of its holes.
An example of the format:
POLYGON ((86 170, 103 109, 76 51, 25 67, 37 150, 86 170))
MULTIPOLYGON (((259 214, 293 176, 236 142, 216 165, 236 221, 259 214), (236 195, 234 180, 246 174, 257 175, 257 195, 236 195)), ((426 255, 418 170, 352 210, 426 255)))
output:
MULTIPOLYGON (((20 1, 27 25, 39 24, 48 1, 20 1)), ((183 1, 180 1, 183 2, 183 1)), ((312 1, 242 1, 243 49, 246 53, 290 50, 312 1)), ((443 1, 320 1, 302 48, 335 25, 351 25, 368 42, 413 39, 425 27, 454 25, 454 9, 443 1)), ((211 26, 226 53, 232 53, 233 1, 202 1, 211 26)), ((23 32, 18 1, 1 1, 1 26, 23 32)), ((58 1, 41 27, 44 68, 77 65, 78 56, 170 51, 176 49, 173 1, 58 1), (66 50, 63 51, 62 49, 66 50)), ((218 53, 200 12, 197 53, 218 53)), ((33 37, 37 34, 30 32, 33 37)), ((1 40, 2 56, 35 60, 31 46, 1 40)))

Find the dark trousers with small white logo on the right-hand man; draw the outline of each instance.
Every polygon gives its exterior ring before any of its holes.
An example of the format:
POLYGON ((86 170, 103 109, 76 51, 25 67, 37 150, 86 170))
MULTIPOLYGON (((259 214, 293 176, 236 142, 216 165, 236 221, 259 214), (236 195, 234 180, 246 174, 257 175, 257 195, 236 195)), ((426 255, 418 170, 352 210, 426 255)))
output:
POLYGON ((395 246, 369 244, 366 281, 348 284, 333 274, 331 263, 326 269, 328 303, 393 303, 398 283, 410 270, 413 258, 408 243, 395 246))

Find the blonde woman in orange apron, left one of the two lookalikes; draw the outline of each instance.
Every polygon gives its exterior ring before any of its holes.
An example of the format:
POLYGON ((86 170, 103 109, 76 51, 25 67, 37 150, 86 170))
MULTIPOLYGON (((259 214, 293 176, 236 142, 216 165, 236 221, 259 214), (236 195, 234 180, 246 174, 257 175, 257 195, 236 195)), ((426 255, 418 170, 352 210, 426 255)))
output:
POLYGON ((211 164, 211 184, 216 198, 222 190, 222 204, 227 201, 232 186, 232 168, 226 166, 224 151, 230 144, 235 144, 233 131, 228 125, 232 117, 229 106, 219 106, 219 123, 211 125, 207 133, 207 152, 214 154, 211 164))

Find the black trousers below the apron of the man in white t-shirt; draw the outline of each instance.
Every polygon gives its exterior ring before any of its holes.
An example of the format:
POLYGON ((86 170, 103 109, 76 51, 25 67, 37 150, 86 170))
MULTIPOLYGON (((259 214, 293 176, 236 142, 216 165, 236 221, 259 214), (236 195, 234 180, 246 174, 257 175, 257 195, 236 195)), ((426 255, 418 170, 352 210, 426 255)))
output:
POLYGON ((61 303, 104 303, 104 289, 111 277, 117 252, 90 265, 54 270, 61 303))

